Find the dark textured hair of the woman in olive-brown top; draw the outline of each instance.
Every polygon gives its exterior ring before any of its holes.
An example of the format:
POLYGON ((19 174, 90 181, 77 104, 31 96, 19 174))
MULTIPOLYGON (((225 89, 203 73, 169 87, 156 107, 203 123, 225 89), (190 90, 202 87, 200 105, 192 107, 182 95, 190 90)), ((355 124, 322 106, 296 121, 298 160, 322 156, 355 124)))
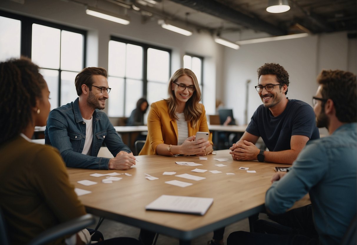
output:
POLYGON ((19 135, 32 122, 36 99, 46 82, 29 58, 0 62, 0 144, 19 135))

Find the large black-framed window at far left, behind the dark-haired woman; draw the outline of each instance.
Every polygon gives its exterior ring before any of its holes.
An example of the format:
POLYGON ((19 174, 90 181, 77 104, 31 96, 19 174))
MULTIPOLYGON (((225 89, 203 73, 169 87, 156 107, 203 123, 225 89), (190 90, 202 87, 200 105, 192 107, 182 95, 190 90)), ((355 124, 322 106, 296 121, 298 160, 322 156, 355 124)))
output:
POLYGON ((85 36, 84 30, 0 11, 0 61, 24 55, 40 66, 51 109, 77 97, 74 79, 85 67, 85 36))

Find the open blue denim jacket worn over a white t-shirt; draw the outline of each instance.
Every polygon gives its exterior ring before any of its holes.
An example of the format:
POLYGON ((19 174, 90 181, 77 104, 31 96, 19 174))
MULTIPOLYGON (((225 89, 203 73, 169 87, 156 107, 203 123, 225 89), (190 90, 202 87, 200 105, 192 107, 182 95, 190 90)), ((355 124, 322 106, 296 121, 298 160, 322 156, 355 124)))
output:
POLYGON ((93 113, 93 140, 90 155, 82 154, 86 139, 86 124, 78 105, 79 98, 52 110, 47 120, 45 143, 56 147, 67 167, 108 169, 109 158, 97 157, 102 143, 116 156, 119 151, 131 152, 116 133, 108 116, 95 110, 93 113))

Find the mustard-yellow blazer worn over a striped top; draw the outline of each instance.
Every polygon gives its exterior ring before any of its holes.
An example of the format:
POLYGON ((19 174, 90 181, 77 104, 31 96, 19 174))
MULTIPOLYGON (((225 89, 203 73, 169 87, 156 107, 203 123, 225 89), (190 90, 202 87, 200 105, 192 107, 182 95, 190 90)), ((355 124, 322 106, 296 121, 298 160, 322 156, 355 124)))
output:
MULTIPOLYGON (((202 105, 202 104, 200 104, 202 105)), ((205 107, 202 105, 202 115, 196 127, 187 122, 188 136, 196 135, 196 132, 209 132, 205 107)), ((178 131, 176 119, 172 119, 169 114, 169 107, 165 100, 160 100, 151 104, 149 115, 147 116, 147 137, 139 155, 156 155, 156 147, 159 144, 177 145, 178 131)), ((210 139, 213 145, 212 139, 210 139)))

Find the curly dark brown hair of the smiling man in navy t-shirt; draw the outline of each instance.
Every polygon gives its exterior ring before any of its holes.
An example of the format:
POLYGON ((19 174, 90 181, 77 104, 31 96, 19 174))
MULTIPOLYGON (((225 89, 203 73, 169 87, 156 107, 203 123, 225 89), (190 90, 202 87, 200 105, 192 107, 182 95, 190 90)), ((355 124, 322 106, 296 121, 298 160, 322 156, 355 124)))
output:
MULTIPOLYGON (((261 75, 276 75, 276 81, 280 83, 279 88, 286 84, 286 86, 289 86, 289 74, 288 72, 284 69, 279 64, 275 63, 265 63, 263 66, 259 67, 258 70, 258 80, 261 75)), ((288 93, 288 90, 286 89, 285 94, 288 93)))

